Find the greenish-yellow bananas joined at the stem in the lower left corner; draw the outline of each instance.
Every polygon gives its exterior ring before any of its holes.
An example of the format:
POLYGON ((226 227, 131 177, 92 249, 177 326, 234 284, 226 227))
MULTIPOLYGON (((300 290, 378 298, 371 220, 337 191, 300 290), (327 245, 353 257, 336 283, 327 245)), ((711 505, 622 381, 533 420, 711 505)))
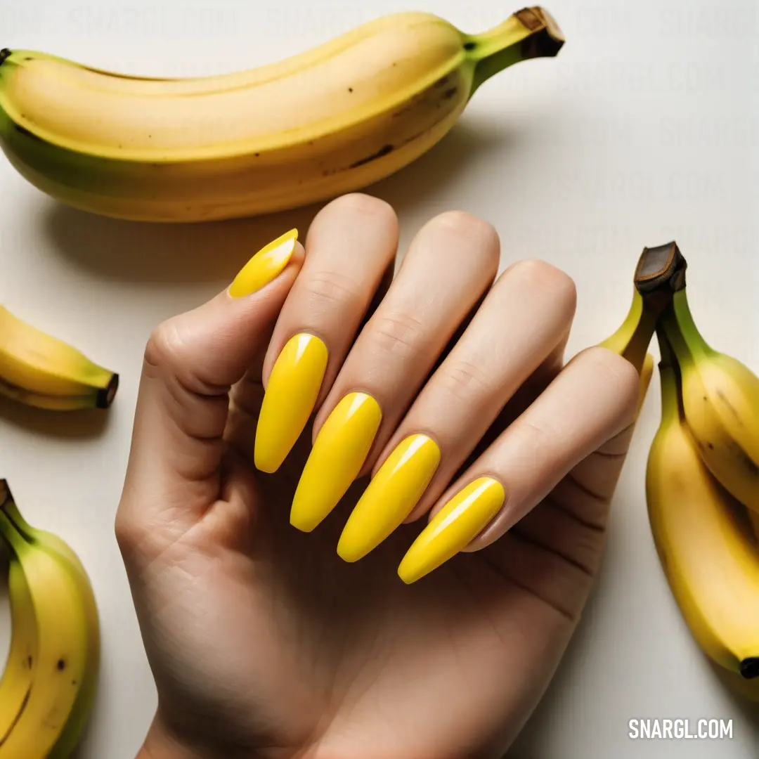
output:
POLYGON ((11 551, 13 632, 0 681, 0 759, 66 759, 97 690, 100 638, 87 573, 60 538, 30 527, 0 480, 11 551))

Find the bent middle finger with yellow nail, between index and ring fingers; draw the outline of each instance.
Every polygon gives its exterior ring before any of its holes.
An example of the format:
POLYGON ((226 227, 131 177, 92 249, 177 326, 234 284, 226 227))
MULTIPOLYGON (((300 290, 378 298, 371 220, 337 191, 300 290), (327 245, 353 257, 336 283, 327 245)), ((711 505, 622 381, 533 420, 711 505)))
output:
MULTIPOLYGON (((419 231, 317 414, 291 524, 313 530, 392 435, 455 329, 493 282, 496 231, 444 213, 419 231)), ((436 451, 428 454, 430 461, 436 451)))

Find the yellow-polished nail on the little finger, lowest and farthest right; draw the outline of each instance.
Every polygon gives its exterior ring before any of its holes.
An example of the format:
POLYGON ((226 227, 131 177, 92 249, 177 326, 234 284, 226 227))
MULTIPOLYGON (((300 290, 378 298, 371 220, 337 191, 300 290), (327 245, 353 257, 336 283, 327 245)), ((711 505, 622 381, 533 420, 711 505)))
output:
POLYGON ((459 490, 430 520, 398 566, 406 584, 416 582, 463 550, 487 527, 505 500, 503 486, 480 477, 459 490))

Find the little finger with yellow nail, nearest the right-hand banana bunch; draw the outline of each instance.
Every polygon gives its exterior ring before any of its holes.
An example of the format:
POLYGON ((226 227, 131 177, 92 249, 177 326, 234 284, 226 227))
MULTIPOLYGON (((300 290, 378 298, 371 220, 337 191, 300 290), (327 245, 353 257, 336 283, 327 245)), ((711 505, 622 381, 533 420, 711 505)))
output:
POLYGON ((402 580, 417 581, 468 546, 479 550, 501 537, 631 424, 638 381, 635 368, 606 348, 589 348, 570 361, 439 499, 398 567, 402 580))

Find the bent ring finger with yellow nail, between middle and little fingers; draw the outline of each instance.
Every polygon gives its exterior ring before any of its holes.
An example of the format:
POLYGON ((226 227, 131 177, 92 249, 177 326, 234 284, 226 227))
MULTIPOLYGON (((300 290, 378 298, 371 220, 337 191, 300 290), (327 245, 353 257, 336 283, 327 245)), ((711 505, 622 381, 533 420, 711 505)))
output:
POLYGON ((433 505, 506 403, 562 347, 574 313, 574 284, 556 267, 524 261, 503 273, 389 440, 345 524, 343 559, 361 559, 417 504, 420 512, 433 505))

